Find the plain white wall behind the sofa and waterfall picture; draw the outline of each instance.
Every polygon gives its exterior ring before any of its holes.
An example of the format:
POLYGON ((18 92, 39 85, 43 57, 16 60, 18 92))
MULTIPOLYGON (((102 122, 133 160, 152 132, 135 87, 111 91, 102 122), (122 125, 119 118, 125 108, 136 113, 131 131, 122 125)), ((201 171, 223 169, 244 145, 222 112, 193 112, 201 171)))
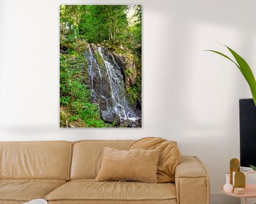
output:
MULTIPOLYGON (((238 99, 250 91, 235 66, 206 49, 230 45, 256 67, 254 0, 1 0, 0 140, 177 140, 210 172, 212 203, 239 157, 238 99), (143 128, 61 129, 60 4, 143 5, 143 128)), ((228 53, 228 52, 226 52, 228 53)))

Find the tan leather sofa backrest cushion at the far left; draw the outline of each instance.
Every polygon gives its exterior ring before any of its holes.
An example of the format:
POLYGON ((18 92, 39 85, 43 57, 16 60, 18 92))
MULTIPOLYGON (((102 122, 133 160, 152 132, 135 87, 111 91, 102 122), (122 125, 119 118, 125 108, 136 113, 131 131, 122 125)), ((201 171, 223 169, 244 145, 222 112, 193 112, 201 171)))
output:
POLYGON ((73 142, 0 142, 0 179, 69 179, 73 142))

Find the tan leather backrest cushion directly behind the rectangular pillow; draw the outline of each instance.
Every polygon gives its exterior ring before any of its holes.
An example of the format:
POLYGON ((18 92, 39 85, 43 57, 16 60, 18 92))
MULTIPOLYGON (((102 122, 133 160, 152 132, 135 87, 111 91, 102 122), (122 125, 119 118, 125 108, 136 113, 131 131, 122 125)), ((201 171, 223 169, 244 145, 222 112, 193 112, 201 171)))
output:
POLYGON ((105 146, 128 149, 134 140, 82 140, 75 142, 70 179, 95 179, 105 146))

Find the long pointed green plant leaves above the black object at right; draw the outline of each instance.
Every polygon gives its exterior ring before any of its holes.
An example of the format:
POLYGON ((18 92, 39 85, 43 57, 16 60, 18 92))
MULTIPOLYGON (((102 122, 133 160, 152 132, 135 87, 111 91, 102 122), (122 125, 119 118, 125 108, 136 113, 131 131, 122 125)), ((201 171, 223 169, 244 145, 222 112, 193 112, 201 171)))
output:
POLYGON ((247 81, 247 84, 250 86, 250 90, 252 92, 252 98, 253 98, 253 101, 255 102, 255 106, 256 106, 256 81, 255 81, 255 77, 252 73, 252 69, 250 68, 249 64, 247 64, 247 62, 242 57, 240 57, 240 55, 238 55, 238 53, 236 53, 230 47, 228 47, 226 45, 224 45, 224 46, 227 47, 228 50, 233 55, 233 57, 235 57, 236 62, 234 60, 230 59, 230 57, 228 57, 227 55, 224 55, 221 52, 218 52, 218 51, 215 51, 215 50, 206 50, 206 51, 215 52, 218 55, 221 55, 221 56, 227 58, 228 60, 233 62, 238 67, 238 69, 240 70, 242 75, 245 77, 245 80, 247 81))

